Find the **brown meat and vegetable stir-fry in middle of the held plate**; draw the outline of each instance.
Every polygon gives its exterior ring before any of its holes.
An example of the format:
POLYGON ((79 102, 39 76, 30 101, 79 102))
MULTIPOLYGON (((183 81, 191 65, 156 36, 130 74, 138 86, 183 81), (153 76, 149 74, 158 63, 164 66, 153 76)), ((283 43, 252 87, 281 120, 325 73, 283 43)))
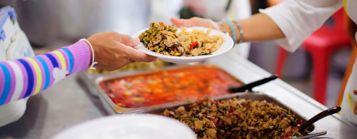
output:
POLYGON ((186 56, 185 49, 175 33, 169 31, 160 31, 149 44, 147 49, 165 55, 186 56))

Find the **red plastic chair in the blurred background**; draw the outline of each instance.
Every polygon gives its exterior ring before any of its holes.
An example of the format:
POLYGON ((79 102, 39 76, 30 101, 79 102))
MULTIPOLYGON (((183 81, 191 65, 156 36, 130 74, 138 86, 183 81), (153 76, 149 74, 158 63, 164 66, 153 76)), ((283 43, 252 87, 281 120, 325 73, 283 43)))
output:
MULTIPOLYGON (((338 49, 351 46, 351 40, 345 30, 343 16, 345 10, 342 8, 332 15, 333 25, 326 23, 317 31, 313 32, 303 42, 303 48, 311 54, 313 70, 313 98, 326 104, 326 86, 330 68, 331 54, 338 49)), ((282 77, 286 51, 279 47, 276 65, 276 73, 282 77)))

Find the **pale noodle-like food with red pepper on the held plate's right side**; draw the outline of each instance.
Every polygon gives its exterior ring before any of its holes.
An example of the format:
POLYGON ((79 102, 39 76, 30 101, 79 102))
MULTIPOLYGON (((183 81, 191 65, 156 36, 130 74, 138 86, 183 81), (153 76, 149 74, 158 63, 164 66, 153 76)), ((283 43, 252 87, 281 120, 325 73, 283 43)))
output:
POLYGON ((220 49, 225 39, 220 35, 210 35, 211 28, 207 32, 193 29, 187 31, 185 27, 177 34, 181 45, 186 50, 187 56, 211 54, 220 49))

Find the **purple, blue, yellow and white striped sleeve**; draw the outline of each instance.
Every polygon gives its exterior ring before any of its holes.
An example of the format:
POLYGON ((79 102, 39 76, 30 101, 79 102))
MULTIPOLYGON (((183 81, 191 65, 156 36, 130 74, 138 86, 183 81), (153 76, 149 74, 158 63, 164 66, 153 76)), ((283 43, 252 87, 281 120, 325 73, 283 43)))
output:
POLYGON ((66 76, 85 70, 90 49, 84 41, 53 52, 0 62, 0 105, 51 87, 66 76))

